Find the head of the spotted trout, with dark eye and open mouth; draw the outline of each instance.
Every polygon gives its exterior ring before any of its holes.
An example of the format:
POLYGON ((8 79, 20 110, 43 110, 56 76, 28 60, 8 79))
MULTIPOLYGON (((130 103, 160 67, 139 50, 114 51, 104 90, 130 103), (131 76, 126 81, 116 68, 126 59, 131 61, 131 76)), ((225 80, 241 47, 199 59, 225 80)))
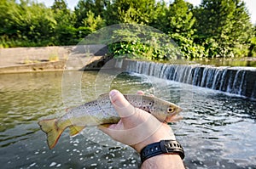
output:
POLYGON ((156 99, 154 100, 154 105, 151 107, 150 113, 159 121, 173 122, 180 120, 177 119, 177 114, 181 111, 182 109, 176 104, 172 104, 166 100, 156 99))

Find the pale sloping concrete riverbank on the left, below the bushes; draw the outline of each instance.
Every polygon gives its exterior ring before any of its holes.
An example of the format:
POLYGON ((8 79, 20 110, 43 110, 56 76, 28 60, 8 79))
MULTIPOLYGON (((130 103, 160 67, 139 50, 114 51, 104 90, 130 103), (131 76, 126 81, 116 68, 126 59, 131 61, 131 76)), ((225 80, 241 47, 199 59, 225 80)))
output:
POLYGON ((0 48, 0 74, 57 70, 99 70, 108 61, 106 48, 89 45, 93 54, 83 66, 66 67, 68 57, 84 59, 88 54, 79 46, 38 47, 38 48, 0 48), (93 49, 96 49, 94 51, 93 49), (98 50, 99 49, 99 50, 98 50), (103 50, 102 50, 103 49, 103 50), (100 52, 99 52, 100 51, 100 52))

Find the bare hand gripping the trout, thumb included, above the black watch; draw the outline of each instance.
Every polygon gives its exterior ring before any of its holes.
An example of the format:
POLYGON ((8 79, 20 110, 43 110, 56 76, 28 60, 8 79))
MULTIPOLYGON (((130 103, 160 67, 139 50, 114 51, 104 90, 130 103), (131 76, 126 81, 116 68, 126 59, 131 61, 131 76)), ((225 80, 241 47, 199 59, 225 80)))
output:
POLYGON ((112 90, 109 97, 121 119, 117 124, 99 128, 114 140, 140 152, 148 144, 163 139, 176 139, 170 126, 158 121, 147 111, 133 107, 119 91, 112 90))

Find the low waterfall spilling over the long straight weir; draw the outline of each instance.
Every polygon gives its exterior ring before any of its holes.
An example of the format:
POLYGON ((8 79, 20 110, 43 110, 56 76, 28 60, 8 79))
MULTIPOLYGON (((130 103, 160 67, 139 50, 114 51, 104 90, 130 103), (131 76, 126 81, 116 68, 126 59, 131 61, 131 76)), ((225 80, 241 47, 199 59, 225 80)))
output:
POLYGON ((256 69, 125 60, 125 70, 256 99, 256 69))

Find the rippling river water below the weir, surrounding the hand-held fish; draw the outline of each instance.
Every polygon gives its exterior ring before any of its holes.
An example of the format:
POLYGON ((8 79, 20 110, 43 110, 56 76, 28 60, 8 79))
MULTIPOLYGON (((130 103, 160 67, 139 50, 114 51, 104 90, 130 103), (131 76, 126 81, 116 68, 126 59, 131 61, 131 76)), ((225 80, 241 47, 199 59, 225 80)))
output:
POLYGON ((74 138, 67 130, 50 150, 38 127, 39 120, 63 115, 112 88, 144 90, 183 108, 183 120, 170 125, 185 149, 187 168, 256 168, 256 102, 149 76, 97 71, 0 75, 0 168, 138 168, 133 149, 96 127, 74 138))

